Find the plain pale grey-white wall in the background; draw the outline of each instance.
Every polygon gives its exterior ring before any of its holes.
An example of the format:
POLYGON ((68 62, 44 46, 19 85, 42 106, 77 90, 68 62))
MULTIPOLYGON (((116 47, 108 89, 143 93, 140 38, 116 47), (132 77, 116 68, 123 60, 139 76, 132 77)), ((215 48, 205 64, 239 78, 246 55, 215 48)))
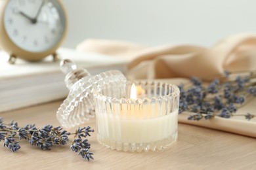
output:
POLYGON ((210 46, 222 37, 256 32, 253 0, 62 0, 69 16, 63 46, 87 38, 140 44, 210 46))

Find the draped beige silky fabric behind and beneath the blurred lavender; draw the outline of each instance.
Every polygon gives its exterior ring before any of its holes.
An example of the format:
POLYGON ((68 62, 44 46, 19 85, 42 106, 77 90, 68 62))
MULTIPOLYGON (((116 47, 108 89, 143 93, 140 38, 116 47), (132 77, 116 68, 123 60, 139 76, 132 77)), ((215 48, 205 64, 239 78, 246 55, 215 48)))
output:
MULTIPOLYGON (((89 39, 79 44, 77 50, 131 59, 127 73, 130 79, 207 77, 221 75, 224 70, 256 70, 256 35, 248 33, 228 37, 210 48, 193 45, 146 47, 130 42, 89 39)), ((249 110, 256 112, 255 104, 246 105, 239 112, 244 114, 249 110)), ((179 122, 256 137, 256 122, 248 122, 244 117, 194 122, 188 121, 184 113, 180 114, 179 122)))

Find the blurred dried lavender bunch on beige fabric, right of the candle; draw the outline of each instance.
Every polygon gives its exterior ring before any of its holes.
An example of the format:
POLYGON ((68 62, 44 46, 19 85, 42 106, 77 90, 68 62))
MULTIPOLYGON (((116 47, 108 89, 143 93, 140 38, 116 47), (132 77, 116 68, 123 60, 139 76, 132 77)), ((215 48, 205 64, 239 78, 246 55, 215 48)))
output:
MULTIPOLYGON (((225 77, 231 77, 232 73, 226 71, 225 77)), ((249 97, 256 96, 256 71, 249 72, 244 76, 226 78, 224 82, 219 79, 213 80, 209 86, 203 86, 202 80, 196 77, 191 78, 188 86, 179 86, 180 108, 183 111, 196 112, 190 115, 189 120, 211 119, 215 116, 230 118, 236 116, 236 110, 249 101, 249 97)), ((255 115, 244 114, 247 120, 255 115)))

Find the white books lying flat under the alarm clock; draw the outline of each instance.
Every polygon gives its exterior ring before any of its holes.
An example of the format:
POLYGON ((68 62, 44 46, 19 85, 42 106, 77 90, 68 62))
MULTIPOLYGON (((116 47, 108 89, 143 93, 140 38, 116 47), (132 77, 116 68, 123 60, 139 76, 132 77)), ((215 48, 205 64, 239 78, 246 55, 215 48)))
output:
MULTIPOLYGON (((74 61, 78 68, 87 69, 91 75, 112 69, 125 72, 128 63, 127 59, 68 48, 60 48, 58 54, 61 59, 74 61)), ((65 75, 60 71, 58 61, 53 62, 50 57, 40 62, 17 59, 11 65, 8 59, 5 52, 0 52, 0 112, 64 99, 68 95, 65 75)))

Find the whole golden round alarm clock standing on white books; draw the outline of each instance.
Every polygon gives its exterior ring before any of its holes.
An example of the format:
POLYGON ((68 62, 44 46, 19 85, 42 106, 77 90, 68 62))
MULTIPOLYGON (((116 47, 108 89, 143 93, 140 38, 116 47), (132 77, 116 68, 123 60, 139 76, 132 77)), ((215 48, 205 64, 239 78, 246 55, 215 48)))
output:
POLYGON ((59 0, 0 0, 0 48, 16 58, 37 61, 49 55, 66 37, 67 16, 59 0))

